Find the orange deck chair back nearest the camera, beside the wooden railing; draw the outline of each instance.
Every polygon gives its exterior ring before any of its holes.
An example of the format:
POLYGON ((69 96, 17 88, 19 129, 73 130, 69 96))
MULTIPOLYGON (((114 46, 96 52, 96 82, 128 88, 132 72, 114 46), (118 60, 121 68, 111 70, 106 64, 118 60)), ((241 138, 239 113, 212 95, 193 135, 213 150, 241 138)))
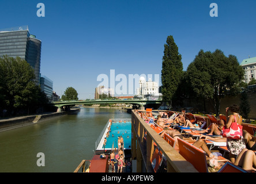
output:
POLYGON ((190 162, 199 173, 208 173, 205 152, 178 138, 179 153, 190 162))

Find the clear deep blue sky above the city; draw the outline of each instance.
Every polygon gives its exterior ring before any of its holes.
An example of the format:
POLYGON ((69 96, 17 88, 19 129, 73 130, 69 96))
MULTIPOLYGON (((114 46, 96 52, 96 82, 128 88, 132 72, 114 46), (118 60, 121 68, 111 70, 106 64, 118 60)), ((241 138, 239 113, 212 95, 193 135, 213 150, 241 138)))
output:
MULTIPOLYGON (((93 98, 97 76, 159 74, 167 36, 174 36, 183 70, 200 49, 256 57, 254 0, 1 0, 0 29, 28 25, 42 40, 41 73, 62 95, 74 87, 93 98), (211 3, 218 17, 210 17, 211 3), (45 17, 37 17, 44 3, 45 17)), ((116 82, 115 85, 119 83, 116 82)), ((127 82, 128 83, 128 82, 127 82)))

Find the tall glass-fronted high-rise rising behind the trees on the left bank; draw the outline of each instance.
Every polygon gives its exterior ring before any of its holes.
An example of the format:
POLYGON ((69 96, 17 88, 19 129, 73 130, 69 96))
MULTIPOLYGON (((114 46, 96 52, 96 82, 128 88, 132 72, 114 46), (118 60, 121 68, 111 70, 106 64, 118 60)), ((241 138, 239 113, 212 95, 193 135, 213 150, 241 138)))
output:
POLYGON ((42 41, 29 33, 28 26, 0 29, 0 57, 20 57, 25 59, 35 71, 36 82, 40 82, 42 41))

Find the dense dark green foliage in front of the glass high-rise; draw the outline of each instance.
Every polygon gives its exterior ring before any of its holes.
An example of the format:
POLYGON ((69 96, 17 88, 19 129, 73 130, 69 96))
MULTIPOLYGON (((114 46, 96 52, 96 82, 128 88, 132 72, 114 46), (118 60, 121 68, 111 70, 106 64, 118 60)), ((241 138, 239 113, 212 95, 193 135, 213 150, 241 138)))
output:
POLYGON ((0 94, 0 109, 9 114, 47 102, 35 83, 33 68, 20 57, 0 57, 0 94))

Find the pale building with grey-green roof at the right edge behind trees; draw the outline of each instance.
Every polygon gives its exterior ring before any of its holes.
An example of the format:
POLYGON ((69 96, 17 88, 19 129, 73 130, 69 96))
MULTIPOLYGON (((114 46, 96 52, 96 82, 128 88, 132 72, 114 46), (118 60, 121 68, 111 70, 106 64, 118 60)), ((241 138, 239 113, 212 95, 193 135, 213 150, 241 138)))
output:
POLYGON ((256 79, 256 57, 249 57, 248 59, 244 59, 240 66, 244 69, 244 82, 249 83, 251 78, 256 79))

